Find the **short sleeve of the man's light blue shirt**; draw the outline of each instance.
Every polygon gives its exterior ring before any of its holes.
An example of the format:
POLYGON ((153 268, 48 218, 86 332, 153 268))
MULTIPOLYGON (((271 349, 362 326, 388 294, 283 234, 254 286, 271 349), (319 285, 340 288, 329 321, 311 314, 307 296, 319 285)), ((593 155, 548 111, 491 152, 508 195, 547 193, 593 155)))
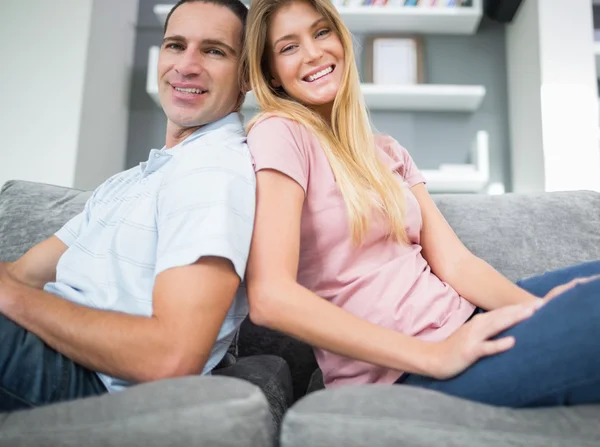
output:
POLYGON ((202 257, 231 261, 243 281, 254 225, 255 179, 244 146, 182 157, 157 199, 155 275, 202 257))

